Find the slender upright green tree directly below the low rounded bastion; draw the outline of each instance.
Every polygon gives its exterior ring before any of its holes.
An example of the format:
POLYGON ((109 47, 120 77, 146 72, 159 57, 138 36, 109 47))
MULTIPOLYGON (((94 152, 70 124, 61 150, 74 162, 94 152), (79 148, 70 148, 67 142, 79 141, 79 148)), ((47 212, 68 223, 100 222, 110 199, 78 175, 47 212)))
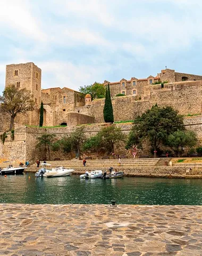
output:
POLYGON ((84 127, 77 127, 72 133, 71 133, 71 149, 76 150, 79 155, 79 159, 81 159, 81 148, 83 143, 86 140, 86 135, 84 133, 84 127))

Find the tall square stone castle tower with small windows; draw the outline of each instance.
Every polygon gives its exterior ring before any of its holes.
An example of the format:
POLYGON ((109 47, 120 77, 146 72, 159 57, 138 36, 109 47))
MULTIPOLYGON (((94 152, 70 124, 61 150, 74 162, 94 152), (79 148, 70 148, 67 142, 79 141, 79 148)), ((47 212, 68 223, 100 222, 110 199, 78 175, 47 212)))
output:
MULTIPOLYGON (((14 84, 19 89, 26 88, 33 95, 36 109, 40 108, 41 102, 41 69, 33 62, 6 65, 6 84, 14 84)), ((32 111, 27 116, 16 117, 18 123, 38 125, 37 110, 32 111), (36 113, 35 113, 36 112, 36 113), (23 119, 20 121, 20 119, 23 119), (24 122, 23 122, 24 121, 24 122)))

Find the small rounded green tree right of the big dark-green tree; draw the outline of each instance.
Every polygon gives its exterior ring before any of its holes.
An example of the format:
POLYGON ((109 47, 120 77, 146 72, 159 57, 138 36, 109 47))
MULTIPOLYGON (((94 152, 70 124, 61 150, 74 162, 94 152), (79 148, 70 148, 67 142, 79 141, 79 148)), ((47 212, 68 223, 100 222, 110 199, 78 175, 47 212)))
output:
POLYGON ((176 156, 184 152, 184 149, 190 149, 197 144, 196 133, 193 131, 176 131, 167 138, 167 146, 173 149, 176 156))

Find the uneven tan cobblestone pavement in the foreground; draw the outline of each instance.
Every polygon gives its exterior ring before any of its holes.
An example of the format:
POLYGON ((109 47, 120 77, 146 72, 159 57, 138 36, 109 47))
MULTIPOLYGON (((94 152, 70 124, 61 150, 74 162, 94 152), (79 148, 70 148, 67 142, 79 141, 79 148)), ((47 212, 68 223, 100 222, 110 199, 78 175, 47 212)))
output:
POLYGON ((202 255, 202 206, 0 204, 0 255, 202 255))

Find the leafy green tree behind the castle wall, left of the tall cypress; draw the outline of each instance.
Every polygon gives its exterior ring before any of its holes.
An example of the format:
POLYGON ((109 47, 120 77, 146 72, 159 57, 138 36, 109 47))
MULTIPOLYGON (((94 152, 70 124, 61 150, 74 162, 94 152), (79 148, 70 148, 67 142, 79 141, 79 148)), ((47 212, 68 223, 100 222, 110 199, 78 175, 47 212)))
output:
POLYGON ((94 100, 95 98, 104 98, 106 89, 103 84, 95 82, 91 85, 80 86, 79 91, 85 95, 89 93, 92 97, 92 100, 94 100))

